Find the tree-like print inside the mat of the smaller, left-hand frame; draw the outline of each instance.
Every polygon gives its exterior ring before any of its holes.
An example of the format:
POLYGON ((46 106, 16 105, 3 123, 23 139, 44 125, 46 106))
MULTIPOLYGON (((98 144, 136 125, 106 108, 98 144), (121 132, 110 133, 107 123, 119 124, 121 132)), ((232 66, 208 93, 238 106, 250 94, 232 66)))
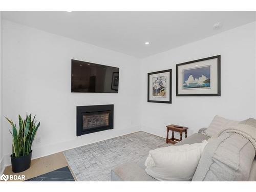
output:
POLYGON ((166 97, 166 76, 152 78, 152 96, 166 97))

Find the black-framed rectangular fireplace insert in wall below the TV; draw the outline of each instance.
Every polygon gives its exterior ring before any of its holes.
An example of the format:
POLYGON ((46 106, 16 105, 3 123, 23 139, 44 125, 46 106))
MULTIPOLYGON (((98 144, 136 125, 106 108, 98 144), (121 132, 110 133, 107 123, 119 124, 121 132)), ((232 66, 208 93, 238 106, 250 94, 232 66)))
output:
POLYGON ((114 105, 76 107, 76 136, 114 129, 114 105))

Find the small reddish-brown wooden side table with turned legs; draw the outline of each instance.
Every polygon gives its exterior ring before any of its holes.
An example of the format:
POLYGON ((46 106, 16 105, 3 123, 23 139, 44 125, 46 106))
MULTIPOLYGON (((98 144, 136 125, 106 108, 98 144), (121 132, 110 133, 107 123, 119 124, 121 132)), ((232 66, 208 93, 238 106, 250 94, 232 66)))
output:
POLYGON ((167 125, 166 126, 166 131, 167 131, 166 143, 175 144, 178 141, 181 141, 183 132, 185 132, 185 138, 187 138, 187 129, 188 129, 188 127, 185 127, 185 126, 179 126, 179 125, 175 125, 175 124, 167 125), (173 131, 171 139, 169 139, 169 131, 173 131), (174 138, 174 132, 179 132, 180 133, 180 139, 174 138))

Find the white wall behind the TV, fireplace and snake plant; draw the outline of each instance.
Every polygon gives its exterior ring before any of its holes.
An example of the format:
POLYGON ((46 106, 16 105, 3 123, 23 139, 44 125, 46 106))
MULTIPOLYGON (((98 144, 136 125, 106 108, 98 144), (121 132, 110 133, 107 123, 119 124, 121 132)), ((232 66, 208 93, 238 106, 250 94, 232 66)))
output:
MULTIPOLYGON (((33 157, 140 130, 138 59, 3 20, 3 115, 36 114, 41 122, 33 157), (120 68, 119 93, 71 93, 71 59, 120 68), (114 130, 76 137, 76 106, 114 104, 114 130)), ((3 121, 4 155, 11 135, 3 121)))

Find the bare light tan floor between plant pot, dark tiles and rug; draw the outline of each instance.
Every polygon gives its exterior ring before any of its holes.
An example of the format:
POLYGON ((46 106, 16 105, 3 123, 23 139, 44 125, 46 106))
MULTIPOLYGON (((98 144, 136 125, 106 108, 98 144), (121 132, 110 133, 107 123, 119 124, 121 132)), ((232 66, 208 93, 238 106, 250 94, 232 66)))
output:
MULTIPOLYGON (((5 168, 4 174, 5 175, 25 175, 25 180, 46 174, 48 172, 52 172, 53 170, 56 170, 61 167, 69 166, 64 154, 62 152, 52 154, 49 156, 41 157, 38 159, 33 159, 31 161, 31 166, 29 169, 25 170, 24 172, 20 173, 13 173, 12 167, 7 166, 5 168)), ((72 169, 69 166, 69 169, 76 180, 76 177, 74 173, 72 172, 72 169)))

